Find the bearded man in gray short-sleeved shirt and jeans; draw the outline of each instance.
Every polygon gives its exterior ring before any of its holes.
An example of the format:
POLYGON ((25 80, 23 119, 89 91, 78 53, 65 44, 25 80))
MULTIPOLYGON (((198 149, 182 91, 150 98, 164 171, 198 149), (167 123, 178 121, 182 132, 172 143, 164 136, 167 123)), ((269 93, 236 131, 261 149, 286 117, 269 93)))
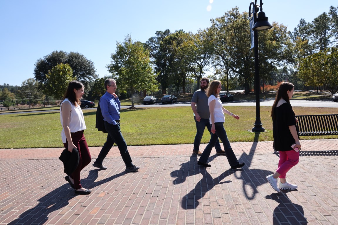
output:
MULTIPOLYGON (((203 77, 200 81, 201 89, 195 91, 194 95, 191 99, 191 109, 194 112, 194 119, 196 122, 196 136, 194 140, 194 149, 193 153, 197 156, 200 156, 202 152, 199 151, 199 145, 201 143, 201 139, 204 133, 204 129, 207 127, 208 131, 211 135, 211 125, 209 121, 210 112, 208 105, 208 96, 206 93, 206 89, 209 85, 209 79, 203 77)), ((225 155, 225 151, 221 149, 221 145, 219 144, 219 140, 217 139, 216 144, 216 154, 225 155)))

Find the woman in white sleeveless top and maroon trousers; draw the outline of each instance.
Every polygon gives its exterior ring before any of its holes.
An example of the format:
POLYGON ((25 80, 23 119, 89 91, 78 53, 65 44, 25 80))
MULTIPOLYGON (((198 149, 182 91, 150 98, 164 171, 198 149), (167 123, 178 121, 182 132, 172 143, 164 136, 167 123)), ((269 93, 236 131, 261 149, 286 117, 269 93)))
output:
POLYGON ((70 186, 75 189, 75 193, 81 195, 90 194, 91 191, 82 188, 80 184, 80 172, 92 160, 86 138, 84 138, 83 130, 86 129, 84 117, 80 108, 80 99, 84 94, 83 84, 78 81, 71 81, 64 95, 64 100, 60 107, 60 120, 62 124, 62 142, 68 151, 72 152, 73 148, 79 151, 79 164, 76 170, 67 175, 65 179, 70 186))

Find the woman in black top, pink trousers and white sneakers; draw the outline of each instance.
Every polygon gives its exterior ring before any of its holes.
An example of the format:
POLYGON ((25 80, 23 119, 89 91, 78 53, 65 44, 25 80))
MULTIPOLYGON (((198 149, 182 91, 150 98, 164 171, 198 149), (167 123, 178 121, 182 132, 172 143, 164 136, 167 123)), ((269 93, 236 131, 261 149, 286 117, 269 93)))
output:
POLYGON ((298 120, 290 104, 293 91, 293 84, 282 83, 278 88, 276 99, 271 109, 273 146, 276 151, 279 151, 280 159, 276 172, 266 178, 276 191, 280 191, 280 189, 294 190, 298 187, 286 180, 286 173, 297 165, 299 161, 298 149, 300 150, 301 147, 296 129, 298 120), (279 187, 277 186, 278 177, 280 178, 279 187))

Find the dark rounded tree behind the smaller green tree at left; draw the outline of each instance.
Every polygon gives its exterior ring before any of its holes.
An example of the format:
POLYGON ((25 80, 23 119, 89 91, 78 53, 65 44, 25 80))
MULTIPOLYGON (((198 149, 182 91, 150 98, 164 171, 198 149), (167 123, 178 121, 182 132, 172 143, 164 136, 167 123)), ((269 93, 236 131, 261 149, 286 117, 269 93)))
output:
MULTIPOLYGON (((34 64, 34 78, 39 82, 39 90, 43 89, 46 83, 46 74, 58 64, 69 64, 72 68, 73 80, 83 83, 84 88, 90 90, 89 83, 94 81, 98 76, 94 63, 87 59, 83 54, 78 52, 53 51, 51 54, 40 58, 34 64)), ((85 95, 86 95, 85 93, 85 95)))

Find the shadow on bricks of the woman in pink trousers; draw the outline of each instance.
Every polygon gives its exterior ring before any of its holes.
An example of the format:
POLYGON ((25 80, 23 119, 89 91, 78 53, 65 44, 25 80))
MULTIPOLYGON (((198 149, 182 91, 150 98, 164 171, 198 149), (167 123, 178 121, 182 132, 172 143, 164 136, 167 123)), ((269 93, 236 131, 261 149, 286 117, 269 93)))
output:
MULTIPOLYGON (((288 192, 291 192, 289 190, 288 192)), ((273 210, 273 225, 280 224, 308 224, 302 206, 292 203, 287 193, 273 193, 265 196, 266 199, 275 200, 279 205, 273 210)))

